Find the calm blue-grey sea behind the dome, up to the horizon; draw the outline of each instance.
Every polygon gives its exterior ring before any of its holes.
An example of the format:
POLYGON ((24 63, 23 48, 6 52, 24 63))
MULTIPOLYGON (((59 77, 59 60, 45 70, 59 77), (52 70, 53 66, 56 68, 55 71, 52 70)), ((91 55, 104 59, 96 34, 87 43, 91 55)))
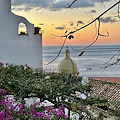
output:
MULTIPOLYGON (((111 60, 111 58, 120 50, 120 45, 94 45, 85 50, 82 56, 78 56, 86 46, 68 46, 70 51, 70 57, 76 62, 80 76, 86 77, 120 77, 120 62, 115 65, 111 65, 116 62, 116 59, 120 59, 119 54, 111 60), (105 63, 108 61, 108 67, 105 63)), ((52 61, 60 51, 61 46, 43 46, 43 68, 48 72, 56 72, 58 63, 64 58, 65 50, 64 46, 60 55, 51 64, 52 61), (48 65, 46 65, 48 64, 48 65)))

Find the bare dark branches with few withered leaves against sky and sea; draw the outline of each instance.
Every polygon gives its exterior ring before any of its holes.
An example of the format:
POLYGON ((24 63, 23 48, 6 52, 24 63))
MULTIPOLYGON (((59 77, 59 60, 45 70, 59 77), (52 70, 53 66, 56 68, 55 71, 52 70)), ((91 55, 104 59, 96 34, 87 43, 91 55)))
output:
MULTIPOLYGON (((73 2, 71 2, 71 4, 70 5, 68 5, 66 8, 67 9, 70 9, 71 7, 72 7, 72 5, 75 3, 75 2, 77 2, 78 0, 73 0, 73 2)), ((101 2, 104 4, 104 0, 101 0, 101 2)), ((103 15, 105 15, 108 11, 110 11, 112 8, 114 8, 115 6, 118 6, 118 11, 117 11, 117 13, 115 13, 115 14, 117 14, 117 17, 118 18, 120 18, 120 0, 118 0, 116 3, 114 3, 111 7, 109 7, 107 10, 105 10, 103 13, 101 13, 100 15, 98 15, 98 17, 96 17, 95 19, 93 19, 91 22, 89 22, 88 24, 86 24, 86 25, 84 25, 84 26, 82 26, 82 27, 79 27, 79 28, 77 28, 77 29, 75 29, 75 30, 73 30, 73 31, 70 31, 70 32, 68 32, 68 31, 65 31, 65 35, 61 35, 61 36, 59 36, 59 35, 54 35, 54 34, 51 34, 51 35, 53 35, 53 36, 55 36, 55 37, 62 37, 62 38, 65 38, 64 39, 64 42, 63 42, 63 45, 62 45, 62 47, 61 47, 61 49, 59 50, 59 52, 58 52, 58 54, 57 54, 57 56, 52 60, 52 61, 50 61, 48 64, 46 64, 46 65, 49 65, 49 64, 51 64, 53 61, 55 61, 56 59, 57 59, 57 57, 59 57, 59 55, 60 55, 60 53, 61 53, 61 51, 62 51, 62 49, 63 49, 63 47, 64 47, 64 45, 65 45, 65 43, 66 43, 66 41, 69 39, 74 39, 74 34, 76 33, 76 32, 78 32, 78 31, 80 31, 80 30, 82 30, 82 29, 85 29, 86 27, 88 27, 88 26, 90 26, 91 24, 93 24, 93 23, 95 23, 95 27, 96 27, 96 35, 94 36, 94 38, 95 38, 95 40, 90 44, 90 45, 88 45, 88 46, 86 46, 85 48, 83 48, 83 49, 73 49, 74 51, 76 51, 76 52, 81 52, 81 53, 79 53, 79 55, 78 56, 81 56, 81 55, 83 55, 83 53, 84 52, 86 52, 86 49, 88 49, 89 47, 91 47, 93 44, 95 44, 96 42, 97 42, 97 40, 98 40, 98 38, 100 37, 100 36, 104 36, 104 37, 109 37, 109 32, 108 31, 106 31, 106 35, 103 35, 103 34, 101 34, 101 32, 100 32, 100 27, 101 27, 101 17, 103 16, 103 15), (98 25, 96 24, 96 22, 98 23, 98 25), (97 26, 96 26, 97 25, 97 26)), ((104 65, 104 69, 105 68, 107 68, 107 67, 110 67, 110 66, 112 66, 112 65, 115 65, 115 64, 117 64, 119 61, 120 61, 120 58, 119 58, 119 54, 120 53, 120 50, 118 50, 111 58, 110 58, 110 60, 108 61, 108 62, 106 62, 105 63, 105 65, 104 65), (117 59, 115 58, 117 56, 117 59), (115 62, 114 63, 110 63, 110 61, 111 60, 113 60, 113 59, 115 59, 115 62)))

